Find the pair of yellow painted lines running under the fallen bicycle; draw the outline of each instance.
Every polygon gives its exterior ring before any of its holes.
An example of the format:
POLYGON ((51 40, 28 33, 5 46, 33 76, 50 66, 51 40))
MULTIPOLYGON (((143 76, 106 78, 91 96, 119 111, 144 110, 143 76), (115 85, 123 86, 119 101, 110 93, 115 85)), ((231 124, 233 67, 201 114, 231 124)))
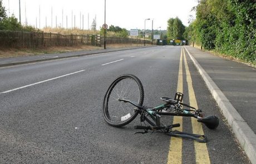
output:
MULTIPOLYGON (((188 92, 189 92, 189 103, 191 106, 198 108, 196 98, 195 98, 195 92, 192 85, 192 79, 189 72, 188 62, 186 61, 184 47, 181 48, 181 54, 180 54, 177 92, 181 92, 181 93, 183 92, 183 57, 184 57, 186 82, 188 85, 188 92)), ((175 129, 178 131, 183 130, 183 117, 174 116, 173 123, 180 123, 180 127, 175 129)), ((203 127, 201 123, 198 123, 196 121, 196 118, 191 118, 191 125, 193 128, 193 133, 204 135, 203 127)), ((209 158, 209 153, 206 147, 206 143, 199 143, 197 141, 194 141, 194 148, 195 148, 196 163, 210 163, 210 158, 209 158)), ((182 138, 171 137, 169 153, 168 153, 168 163, 182 163, 182 138)))

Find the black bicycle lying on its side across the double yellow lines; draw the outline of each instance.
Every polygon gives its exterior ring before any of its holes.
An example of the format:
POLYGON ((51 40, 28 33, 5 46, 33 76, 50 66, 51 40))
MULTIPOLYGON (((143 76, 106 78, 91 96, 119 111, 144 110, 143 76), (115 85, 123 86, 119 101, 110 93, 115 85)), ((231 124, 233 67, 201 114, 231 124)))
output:
POLYGON ((106 92, 102 108, 104 120, 111 126, 121 127, 130 123, 140 114, 141 125, 135 126, 135 129, 144 131, 136 133, 162 132, 170 136, 190 138, 198 142, 206 142, 207 139, 204 135, 172 131, 173 127, 179 127, 180 124, 165 125, 163 121, 160 121, 161 116, 194 117, 210 129, 215 129, 219 125, 218 117, 203 117, 201 110, 183 103, 183 93, 175 93, 174 99, 161 97, 161 100, 165 102, 162 105, 143 106, 144 88, 140 79, 132 74, 123 74, 112 82, 106 92))

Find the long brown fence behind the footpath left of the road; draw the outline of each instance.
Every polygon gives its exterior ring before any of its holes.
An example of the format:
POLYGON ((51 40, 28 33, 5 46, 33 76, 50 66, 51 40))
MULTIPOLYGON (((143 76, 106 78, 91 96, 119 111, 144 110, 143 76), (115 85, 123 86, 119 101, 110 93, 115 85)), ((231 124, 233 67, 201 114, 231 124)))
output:
MULTIPOLYGON (((151 41, 145 41, 150 44, 151 41)), ((107 44, 144 44, 144 39, 106 37, 107 44)), ((1 31, 0 47, 43 48, 55 46, 103 46, 104 37, 99 35, 62 35, 60 33, 1 31)))

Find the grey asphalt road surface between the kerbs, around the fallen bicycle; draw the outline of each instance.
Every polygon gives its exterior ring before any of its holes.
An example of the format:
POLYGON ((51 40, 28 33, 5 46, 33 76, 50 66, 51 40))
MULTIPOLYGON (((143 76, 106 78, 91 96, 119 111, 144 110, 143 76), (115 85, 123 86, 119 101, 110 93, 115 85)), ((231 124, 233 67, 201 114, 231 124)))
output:
MULTIPOLYGON (((150 47, 1 68, 0 163, 175 162, 168 160, 170 136, 134 135, 137 118, 123 128, 111 127, 101 111, 107 88, 124 73, 141 79, 146 106, 173 97, 180 55, 179 46, 150 47)), ((198 107, 220 118, 217 130, 203 126, 210 162, 249 163, 187 54, 186 60, 198 107)), ((184 65, 184 102, 189 102, 184 65)), ((192 132, 190 119, 183 118, 185 132, 192 132)), ((203 152, 194 141, 181 141, 178 160, 198 162, 196 153, 203 152)))

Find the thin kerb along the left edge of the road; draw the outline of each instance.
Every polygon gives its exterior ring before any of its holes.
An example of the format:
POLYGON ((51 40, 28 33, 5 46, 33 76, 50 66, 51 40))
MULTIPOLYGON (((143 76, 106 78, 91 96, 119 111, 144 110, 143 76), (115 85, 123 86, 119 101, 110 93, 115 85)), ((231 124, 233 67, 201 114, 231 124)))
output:
MULTIPOLYGON (((147 47, 149 47, 149 46, 147 46, 147 47)), ((14 66, 14 65, 18 65, 18 64, 27 64, 27 63, 50 61, 50 60, 62 59, 62 58, 81 57, 81 56, 87 56, 87 55, 92 55, 92 54, 125 51, 125 50, 128 50, 128 49, 139 49, 139 48, 147 48, 147 47, 132 47, 132 48, 115 49, 115 50, 103 51, 103 52, 81 53, 81 54, 73 54, 73 55, 61 56, 61 57, 49 57, 49 58, 40 58, 40 59, 34 59, 34 60, 28 60, 28 61, 9 62, 9 63, 0 64, 0 67, 14 66)), ((150 47, 152 47, 152 46, 150 46, 150 47)))

